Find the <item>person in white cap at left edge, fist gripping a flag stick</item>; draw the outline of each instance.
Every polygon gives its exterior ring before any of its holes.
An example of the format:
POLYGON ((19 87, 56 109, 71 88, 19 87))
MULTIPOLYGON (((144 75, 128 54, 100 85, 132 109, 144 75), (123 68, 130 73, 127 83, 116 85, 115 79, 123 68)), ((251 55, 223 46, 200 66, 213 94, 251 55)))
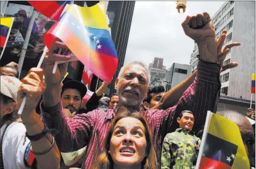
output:
POLYGON ((45 90, 43 71, 33 71, 37 74, 26 76, 23 84, 15 77, 1 75, 0 166, 3 168, 60 168, 57 144, 35 112, 35 103, 45 90), (18 107, 25 95, 23 123, 17 123, 18 107))

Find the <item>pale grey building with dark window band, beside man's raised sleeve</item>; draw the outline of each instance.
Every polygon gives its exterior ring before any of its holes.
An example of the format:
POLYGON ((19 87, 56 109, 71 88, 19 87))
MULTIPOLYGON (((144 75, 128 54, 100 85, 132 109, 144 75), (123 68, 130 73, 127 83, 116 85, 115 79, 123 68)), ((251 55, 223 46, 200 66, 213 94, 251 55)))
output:
POLYGON ((174 88, 191 75, 191 65, 173 63, 168 70, 169 74, 165 76, 167 84, 169 84, 167 85, 166 91, 174 88))

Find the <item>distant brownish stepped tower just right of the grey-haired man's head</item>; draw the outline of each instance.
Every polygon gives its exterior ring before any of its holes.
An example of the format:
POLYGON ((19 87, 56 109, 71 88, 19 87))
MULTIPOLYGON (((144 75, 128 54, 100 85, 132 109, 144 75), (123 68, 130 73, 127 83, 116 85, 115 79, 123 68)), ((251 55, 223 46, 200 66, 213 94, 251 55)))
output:
POLYGON ((155 57, 153 63, 150 63, 148 69, 150 71, 150 82, 153 83, 156 80, 164 80, 165 79, 165 66, 163 65, 164 58, 155 57))

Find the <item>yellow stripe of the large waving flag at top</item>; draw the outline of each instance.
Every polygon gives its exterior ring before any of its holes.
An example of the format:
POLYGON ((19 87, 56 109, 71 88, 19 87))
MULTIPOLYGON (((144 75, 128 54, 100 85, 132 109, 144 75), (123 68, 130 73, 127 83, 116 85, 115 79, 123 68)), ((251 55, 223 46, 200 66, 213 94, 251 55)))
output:
POLYGON ((79 22, 83 23, 85 26, 108 30, 106 14, 99 7, 99 5, 81 7, 77 6, 76 4, 69 4, 65 11, 72 14, 79 22))

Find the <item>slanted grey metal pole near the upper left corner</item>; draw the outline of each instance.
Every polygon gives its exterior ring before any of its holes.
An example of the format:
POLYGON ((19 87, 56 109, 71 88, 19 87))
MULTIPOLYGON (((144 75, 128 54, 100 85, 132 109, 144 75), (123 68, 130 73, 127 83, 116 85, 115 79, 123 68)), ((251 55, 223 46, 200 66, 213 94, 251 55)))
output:
MULTIPOLYGON (((31 6, 31 8, 33 8, 33 7, 31 6)), ((21 55, 19 57, 19 77, 20 77, 20 74, 21 74, 23 62, 25 60, 26 49, 28 48, 28 41, 30 40, 31 31, 32 31, 32 28, 33 28, 33 25, 34 25, 34 22, 35 22, 35 18, 36 18, 36 13, 37 12, 35 10, 33 10, 33 13, 31 14, 30 24, 28 25, 28 31, 26 32, 25 43, 22 47, 21 55)))

